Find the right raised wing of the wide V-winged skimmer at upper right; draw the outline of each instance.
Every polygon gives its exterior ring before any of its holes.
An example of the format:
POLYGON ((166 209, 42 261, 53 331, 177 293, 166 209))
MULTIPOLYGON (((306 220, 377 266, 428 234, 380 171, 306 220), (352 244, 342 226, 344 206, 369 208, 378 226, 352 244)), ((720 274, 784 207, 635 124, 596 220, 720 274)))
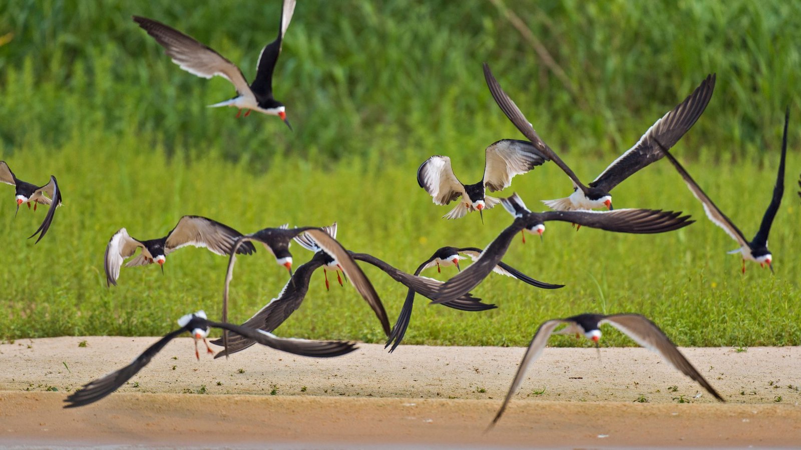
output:
POLYGON ((714 79, 714 74, 708 75, 692 94, 663 115, 661 119, 658 119, 634 144, 634 147, 615 159, 601 175, 598 175, 598 178, 590 183, 590 186, 599 187, 606 192, 612 191, 613 187, 629 178, 634 172, 662 159, 664 154, 660 151, 655 139, 670 149, 690 130, 712 98, 714 79))

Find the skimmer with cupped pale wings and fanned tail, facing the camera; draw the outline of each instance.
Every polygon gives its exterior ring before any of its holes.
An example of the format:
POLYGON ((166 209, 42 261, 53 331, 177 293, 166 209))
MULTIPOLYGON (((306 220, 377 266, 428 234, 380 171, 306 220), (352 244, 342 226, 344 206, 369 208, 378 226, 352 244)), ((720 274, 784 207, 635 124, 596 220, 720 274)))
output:
POLYGON ((549 157, 532 143, 501 139, 486 148, 484 176, 478 183, 462 184, 453 175, 450 158, 434 155, 417 169, 417 184, 433 197, 437 205, 447 205, 461 197, 459 204, 442 217, 460 219, 470 211, 478 211, 483 221, 483 211, 500 201, 485 195, 486 190, 502 191, 512 184, 514 175, 525 174, 545 161, 549 161, 549 157))

